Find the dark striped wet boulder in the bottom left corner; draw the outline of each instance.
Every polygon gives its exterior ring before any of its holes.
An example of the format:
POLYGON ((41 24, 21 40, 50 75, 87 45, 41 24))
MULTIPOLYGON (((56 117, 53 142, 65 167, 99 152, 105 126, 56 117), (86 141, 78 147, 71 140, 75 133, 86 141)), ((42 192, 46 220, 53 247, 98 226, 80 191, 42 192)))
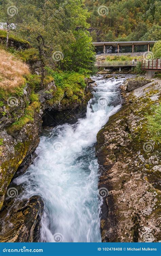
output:
POLYGON ((39 196, 29 200, 5 201, 3 211, 0 212, 0 242, 37 242, 43 208, 39 196))

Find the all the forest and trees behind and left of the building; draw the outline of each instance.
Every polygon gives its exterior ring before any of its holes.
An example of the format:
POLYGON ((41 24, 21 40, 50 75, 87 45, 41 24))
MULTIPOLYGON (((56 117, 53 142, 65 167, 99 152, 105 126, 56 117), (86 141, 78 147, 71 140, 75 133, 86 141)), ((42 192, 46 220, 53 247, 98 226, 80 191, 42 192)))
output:
POLYGON ((46 67, 93 74, 93 41, 160 40, 160 14, 155 0, 3 0, 0 37, 10 52, 10 38, 28 41, 29 49, 15 55, 40 60, 42 84, 46 67))

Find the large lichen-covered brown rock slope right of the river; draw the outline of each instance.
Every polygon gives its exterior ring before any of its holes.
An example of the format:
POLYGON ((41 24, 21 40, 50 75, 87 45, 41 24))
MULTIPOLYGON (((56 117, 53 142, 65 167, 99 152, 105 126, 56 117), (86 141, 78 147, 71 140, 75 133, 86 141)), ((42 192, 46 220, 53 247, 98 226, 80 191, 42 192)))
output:
POLYGON ((122 108, 97 134, 99 189, 105 191, 103 242, 160 240, 161 152, 147 129, 146 113, 159 104, 161 83, 154 80, 142 85, 130 93, 127 82, 122 86, 122 108))

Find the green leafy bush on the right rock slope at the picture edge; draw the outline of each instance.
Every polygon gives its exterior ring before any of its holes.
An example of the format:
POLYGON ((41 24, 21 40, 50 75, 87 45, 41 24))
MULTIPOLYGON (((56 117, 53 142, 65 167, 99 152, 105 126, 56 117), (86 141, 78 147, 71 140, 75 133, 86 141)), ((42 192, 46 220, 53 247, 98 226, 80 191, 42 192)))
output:
POLYGON ((161 104, 152 107, 152 115, 148 115, 148 130, 153 134, 153 140, 161 143, 161 104))

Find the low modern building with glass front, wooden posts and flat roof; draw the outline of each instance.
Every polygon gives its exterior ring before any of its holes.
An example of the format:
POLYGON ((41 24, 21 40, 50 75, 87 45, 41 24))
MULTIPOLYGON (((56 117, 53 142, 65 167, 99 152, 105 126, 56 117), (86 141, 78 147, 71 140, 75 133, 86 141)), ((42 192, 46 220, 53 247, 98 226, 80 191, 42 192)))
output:
POLYGON ((149 52, 156 41, 95 42, 96 54, 149 52))

